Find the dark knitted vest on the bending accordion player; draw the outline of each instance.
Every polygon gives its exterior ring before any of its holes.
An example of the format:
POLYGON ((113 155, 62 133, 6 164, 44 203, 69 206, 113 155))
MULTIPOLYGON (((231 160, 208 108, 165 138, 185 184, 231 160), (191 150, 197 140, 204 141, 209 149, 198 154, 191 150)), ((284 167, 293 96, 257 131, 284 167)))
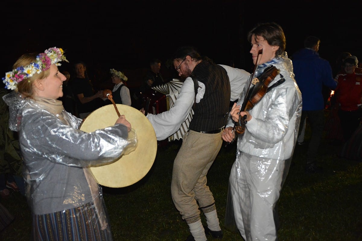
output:
POLYGON ((205 85, 205 94, 193 107, 190 130, 210 131, 226 125, 230 104, 230 81, 226 70, 202 61, 195 66, 191 76, 205 85))

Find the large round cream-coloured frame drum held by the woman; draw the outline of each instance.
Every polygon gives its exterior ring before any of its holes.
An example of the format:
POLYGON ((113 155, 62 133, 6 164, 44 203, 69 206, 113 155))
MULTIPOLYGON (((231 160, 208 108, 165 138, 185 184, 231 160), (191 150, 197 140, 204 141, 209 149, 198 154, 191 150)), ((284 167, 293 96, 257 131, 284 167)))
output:
MULTIPOLYGON (((150 171, 157 152, 155 130, 146 116, 138 109, 123 104, 116 104, 121 115, 131 123, 137 135, 137 147, 115 162, 97 167, 90 167, 98 184, 110 188, 130 186, 141 180, 150 171)), ((118 119, 113 104, 103 106, 90 113, 81 124, 80 129, 94 132, 114 125, 118 119)))

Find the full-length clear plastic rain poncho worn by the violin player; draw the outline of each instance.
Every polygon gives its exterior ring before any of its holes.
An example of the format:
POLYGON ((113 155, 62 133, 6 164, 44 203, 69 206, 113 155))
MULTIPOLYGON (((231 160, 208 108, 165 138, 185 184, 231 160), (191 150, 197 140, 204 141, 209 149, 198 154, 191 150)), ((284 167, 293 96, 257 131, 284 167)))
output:
MULTIPOLYGON (((225 226, 237 227, 247 241, 276 239, 273 211, 289 170, 302 113, 302 97, 286 53, 259 65, 255 77, 271 64, 280 74, 269 86, 282 76, 285 82, 249 110, 253 117, 237 138, 236 160, 229 177, 225 226)), ((249 82, 240 95, 240 106, 249 82)), ((227 126, 233 125, 229 116, 227 126)))

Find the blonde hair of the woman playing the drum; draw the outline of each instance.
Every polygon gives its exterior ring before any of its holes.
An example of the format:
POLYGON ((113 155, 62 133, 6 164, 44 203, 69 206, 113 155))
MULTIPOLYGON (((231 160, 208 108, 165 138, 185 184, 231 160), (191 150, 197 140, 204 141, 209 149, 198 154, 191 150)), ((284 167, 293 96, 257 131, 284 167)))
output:
MULTIPOLYGON (((20 66, 26 66, 36 61, 37 53, 26 53, 15 62, 13 65, 13 69, 16 69, 20 66)), ((24 78, 23 81, 20 81, 17 84, 16 91, 20 92, 24 95, 24 97, 31 97, 33 96, 33 84, 37 79, 45 79, 50 74, 50 69, 44 70, 40 73, 35 73, 33 76, 29 78, 24 78)))

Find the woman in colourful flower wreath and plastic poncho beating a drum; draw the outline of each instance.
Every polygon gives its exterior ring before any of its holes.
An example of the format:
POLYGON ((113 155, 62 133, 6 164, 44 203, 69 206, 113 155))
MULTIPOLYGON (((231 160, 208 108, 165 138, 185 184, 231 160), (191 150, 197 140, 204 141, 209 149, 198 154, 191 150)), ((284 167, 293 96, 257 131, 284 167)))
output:
MULTIPOLYGON (((33 218, 33 240, 112 240, 101 186, 88 168, 113 162, 134 149, 124 115, 113 126, 92 133, 57 100, 66 79, 61 48, 24 54, 3 82, 14 90, 3 97, 9 128, 19 136, 26 197, 33 218)), ((134 136, 134 135, 130 135, 134 136)))

